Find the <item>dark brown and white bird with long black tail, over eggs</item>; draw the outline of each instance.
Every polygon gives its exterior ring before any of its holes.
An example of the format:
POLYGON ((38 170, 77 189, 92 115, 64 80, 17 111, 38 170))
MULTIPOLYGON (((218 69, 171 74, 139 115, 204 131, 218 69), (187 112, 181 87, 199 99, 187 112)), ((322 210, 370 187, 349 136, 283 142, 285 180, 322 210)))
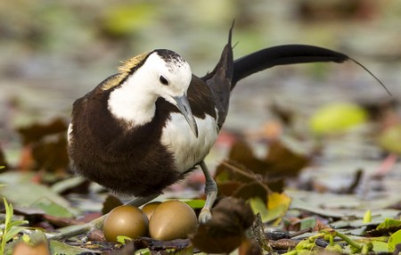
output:
MULTIPOLYGON (((204 160, 225 123, 238 81, 278 65, 356 62, 315 45, 272 46, 233 60, 232 34, 233 25, 216 67, 204 76, 192 74, 178 53, 155 49, 123 62, 117 74, 78 98, 68 130, 72 169, 134 196, 127 203, 137 205, 201 168, 206 202, 199 221, 207 222, 217 185, 204 160)), ((389 93, 370 70, 356 64, 389 93)))

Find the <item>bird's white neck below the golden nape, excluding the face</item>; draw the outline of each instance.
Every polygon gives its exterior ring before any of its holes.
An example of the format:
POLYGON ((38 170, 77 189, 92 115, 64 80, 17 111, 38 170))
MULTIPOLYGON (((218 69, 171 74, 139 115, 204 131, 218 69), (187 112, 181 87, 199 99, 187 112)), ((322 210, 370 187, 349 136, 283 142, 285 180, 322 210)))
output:
POLYGON ((151 122, 156 111, 157 96, 143 91, 141 86, 121 86, 110 93, 111 114, 131 127, 151 122))

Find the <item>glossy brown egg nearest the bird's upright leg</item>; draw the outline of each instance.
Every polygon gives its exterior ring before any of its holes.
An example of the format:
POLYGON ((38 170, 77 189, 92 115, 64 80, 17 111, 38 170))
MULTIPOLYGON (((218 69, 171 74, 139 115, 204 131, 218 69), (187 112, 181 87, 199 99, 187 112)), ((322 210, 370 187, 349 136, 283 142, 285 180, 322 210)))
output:
POLYGON ((198 219, 192 208, 184 202, 162 202, 153 211, 149 221, 151 238, 157 240, 173 240, 187 238, 196 231, 198 219))

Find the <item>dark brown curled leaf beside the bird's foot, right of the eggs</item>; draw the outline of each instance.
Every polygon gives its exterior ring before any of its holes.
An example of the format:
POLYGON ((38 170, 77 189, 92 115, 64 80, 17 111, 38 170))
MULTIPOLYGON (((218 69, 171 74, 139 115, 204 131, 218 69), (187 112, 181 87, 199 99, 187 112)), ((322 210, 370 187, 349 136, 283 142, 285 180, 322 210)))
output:
POLYGON ((190 236, 195 247, 209 253, 229 253, 245 239, 245 230, 253 223, 250 205, 243 200, 225 197, 212 209, 212 218, 190 236))

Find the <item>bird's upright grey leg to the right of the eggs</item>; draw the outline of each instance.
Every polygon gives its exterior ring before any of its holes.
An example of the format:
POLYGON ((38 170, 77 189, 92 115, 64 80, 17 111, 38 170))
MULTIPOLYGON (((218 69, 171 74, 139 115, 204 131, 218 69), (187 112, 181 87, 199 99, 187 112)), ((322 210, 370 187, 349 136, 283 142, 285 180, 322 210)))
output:
POLYGON ((217 184, 213 179, 213 177, 211 177, 209 169, 203 160, 201 161, 200 166, 206 178, 206 183, 205 183, 206 202, 199 215, 199 222, 206 223, 211 218, 210 209, 212 208, 213 203, 216 201, 217 184))

